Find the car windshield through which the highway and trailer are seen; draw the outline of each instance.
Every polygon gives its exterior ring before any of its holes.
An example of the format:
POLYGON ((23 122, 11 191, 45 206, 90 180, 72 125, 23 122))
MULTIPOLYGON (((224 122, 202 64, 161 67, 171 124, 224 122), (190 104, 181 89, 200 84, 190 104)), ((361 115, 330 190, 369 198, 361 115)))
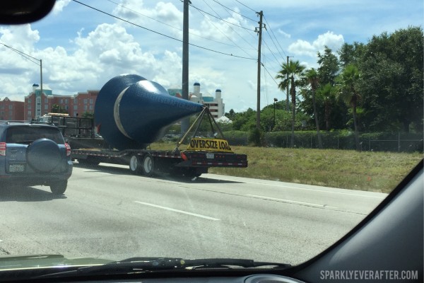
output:
POLYGON ((319 255, 423 158, 423 15, 57 0, 1 25, 0 281, 69 259, 319 255))

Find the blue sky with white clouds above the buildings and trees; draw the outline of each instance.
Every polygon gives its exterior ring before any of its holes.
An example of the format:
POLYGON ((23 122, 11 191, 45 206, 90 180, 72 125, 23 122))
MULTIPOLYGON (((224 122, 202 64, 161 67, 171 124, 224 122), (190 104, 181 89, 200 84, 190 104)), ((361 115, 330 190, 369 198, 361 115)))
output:
MULTIPOLYGON (((182 2, 81 0, 126 21, 182 38, 182 2)), ((189 47, 189 90, 220 88, 225 110, 256 109, 258 17, 264 12, 261 107, 281 100, 273 77, 286 56, 317 66, 324 45, 334 52, 344 43, 364 42, 382 32, 423 26, 422 0, 192 0, 189 40, 194 45, 234 54, 230 57, 189 47), (244 5, 243 5, 244 4, 244 5), (200 11, 199 11, 200 10, 200 11), (231 11, 232 10, 232 11, 231 11), (210 15, 213 16, 210 16, 210 15), (223 18, 225 21, 221 21, 223 18), (231 24, 230 24, 231 23, 231 24), (242 28, 240 28, 242 27, 242 28)), ((42 59, 43 84, 71 95, 100 89, 118 74, 139 74, 165 88, 181 86, 182 43, 131 25, 71 0, 57 1, 46 18, 28 25, 0 26, 0 42, 42 59)), ((0 45, 0 99, 23 100, 40 67, 0 45)))

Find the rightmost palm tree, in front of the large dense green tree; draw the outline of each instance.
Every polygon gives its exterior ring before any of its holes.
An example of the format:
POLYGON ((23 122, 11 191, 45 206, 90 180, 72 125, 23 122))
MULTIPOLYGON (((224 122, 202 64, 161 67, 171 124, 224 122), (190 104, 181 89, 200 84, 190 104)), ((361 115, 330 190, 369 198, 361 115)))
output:
POLYGON ((360 79, 358 68, 354 64, 348 64, 338 75, 336 82, 339 84, 340 89, 337 93, 337 98, 341 98, 348 107, 352 109, 353 126, 355 128, 355 144, 356 150, 360 150, 359 132, 358 132, 358 115, 357 110, 360 100, 360 94, 356 90, 356 83, 360 79))

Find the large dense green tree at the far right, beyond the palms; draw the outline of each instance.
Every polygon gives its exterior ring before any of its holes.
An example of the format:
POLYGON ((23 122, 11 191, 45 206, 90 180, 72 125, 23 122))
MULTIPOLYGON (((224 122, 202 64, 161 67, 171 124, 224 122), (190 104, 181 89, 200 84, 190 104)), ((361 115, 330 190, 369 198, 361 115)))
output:
POLYGON ((361 57, 358 91, 370 130, 423 131, 423 28, 375 35, 361 57))

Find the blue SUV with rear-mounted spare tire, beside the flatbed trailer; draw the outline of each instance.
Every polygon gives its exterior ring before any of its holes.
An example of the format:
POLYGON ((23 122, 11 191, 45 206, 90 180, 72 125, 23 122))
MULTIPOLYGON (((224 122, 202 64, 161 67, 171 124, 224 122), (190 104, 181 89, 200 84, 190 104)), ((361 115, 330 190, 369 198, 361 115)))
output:
POLYGON ((72 173, 71 147, 59 128, 19 122, 0 122, 0 183, 48 185, 65 192, 72 173))

